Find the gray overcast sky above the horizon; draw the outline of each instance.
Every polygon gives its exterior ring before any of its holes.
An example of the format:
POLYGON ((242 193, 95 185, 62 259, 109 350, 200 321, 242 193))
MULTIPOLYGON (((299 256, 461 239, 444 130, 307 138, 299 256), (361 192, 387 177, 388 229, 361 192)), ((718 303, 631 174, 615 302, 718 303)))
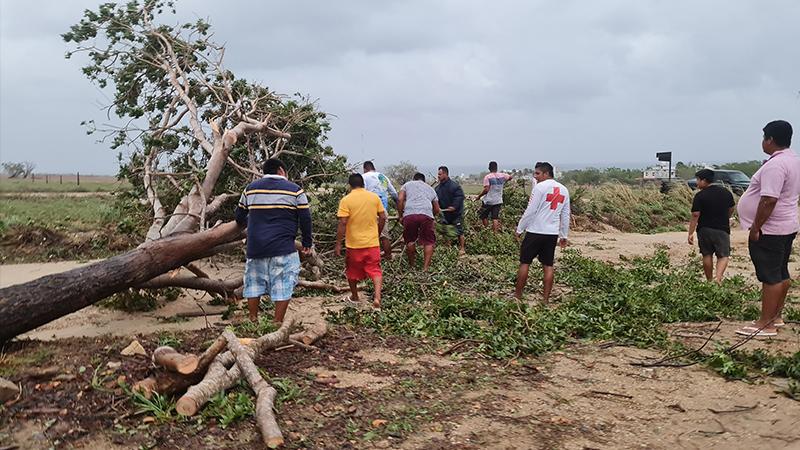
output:
MULTIPOLYGON (((81 120, 106 96, 59 35, 95 1, 0 0, 0 160, 113 174, 81 120)), ((330 143, 378 165, 502 167, 760 159, 800 128, 800 1, 178 1, 226 66, 336 117, 330 143)), ((800 138, 798 138, 800 139, 800 138)))

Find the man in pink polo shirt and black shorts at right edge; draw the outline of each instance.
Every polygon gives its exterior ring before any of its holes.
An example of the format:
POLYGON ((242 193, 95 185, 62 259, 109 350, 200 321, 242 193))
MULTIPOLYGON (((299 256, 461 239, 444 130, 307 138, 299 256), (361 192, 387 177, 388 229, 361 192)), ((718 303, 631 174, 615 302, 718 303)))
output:
POLYGON ((800 229, 800 158, 789 148, 791 144, 789 122, 776 120, 764 127, 761 148, 769 159, 739 199, 739 221, 743 229, 750 229, 750 258, 762 288, 761 317, 737 334, 775 336, 783 326, 781 311, 791 285, 789 255, 800 229))

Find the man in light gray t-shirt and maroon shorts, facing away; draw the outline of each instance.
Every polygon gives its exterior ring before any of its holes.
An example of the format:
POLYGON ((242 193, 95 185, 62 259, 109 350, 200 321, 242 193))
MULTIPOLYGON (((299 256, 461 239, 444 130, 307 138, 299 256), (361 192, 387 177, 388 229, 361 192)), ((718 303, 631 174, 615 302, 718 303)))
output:
POLYGON ((414 179, 400 188, 397 212, 403 223, 403 241, 406 244, 408 263, 414 267, 417 259, 417 242, 422 245, 423 266, 428 270, 436 243, 433 218, 441 212, 436 191, 425 182, 425 175, 414 174, 414 179))

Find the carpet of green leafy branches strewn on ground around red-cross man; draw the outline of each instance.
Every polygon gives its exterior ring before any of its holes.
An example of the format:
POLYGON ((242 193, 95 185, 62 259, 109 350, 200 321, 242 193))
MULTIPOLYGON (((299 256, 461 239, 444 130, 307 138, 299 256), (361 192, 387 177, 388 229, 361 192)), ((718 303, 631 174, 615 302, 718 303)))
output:
POLYGON ((428 276, 406 274, 406 262, 393 261, 385 269, 381 314, 347 308, 334 318, 388 333, 469 339, 481 353, 510 358, 556 350, 576 338, 664 346, 663 323, 747 319, 757 312, 757 293, 742 278, 709 284, 695 262, 673 266, 664 252, 623 267, 566 252, 557 282, 571 293, 555 308, 520 303, 511 298, 516 253, 510 246, 498 242, 493 257, 458 264, 454 250, 440 249, 428 276))

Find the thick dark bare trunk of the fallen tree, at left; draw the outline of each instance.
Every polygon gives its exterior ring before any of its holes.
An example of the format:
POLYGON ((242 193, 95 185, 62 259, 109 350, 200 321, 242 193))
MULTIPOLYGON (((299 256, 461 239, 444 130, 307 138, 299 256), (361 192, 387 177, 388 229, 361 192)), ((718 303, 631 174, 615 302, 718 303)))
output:
POLYGON ((236 223, 228 222, 199 233, 150 241, 85 267, 0 289, 0 342, 211 256, 215 247, 242 237, 236 223))

